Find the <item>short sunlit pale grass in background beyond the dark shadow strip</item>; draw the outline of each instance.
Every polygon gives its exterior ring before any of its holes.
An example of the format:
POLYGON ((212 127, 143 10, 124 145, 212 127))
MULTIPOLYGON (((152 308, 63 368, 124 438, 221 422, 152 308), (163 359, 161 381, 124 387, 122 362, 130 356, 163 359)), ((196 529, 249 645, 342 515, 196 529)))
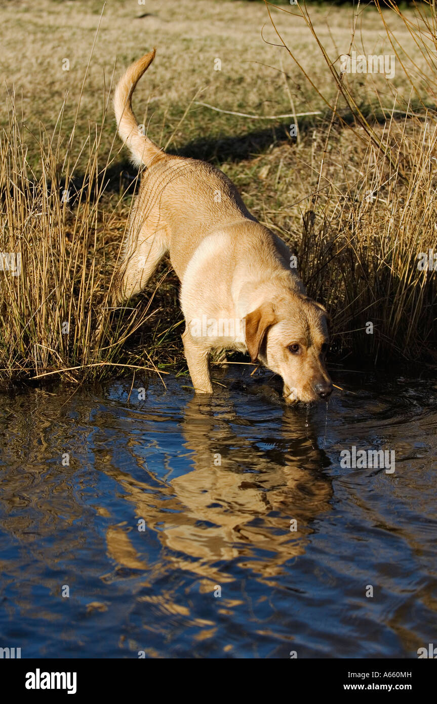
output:
MULTIPOLYGON (((296 7, 286 4, 279 7, 278 10, 270 6, 270 13, 284 42, 315 86, 332 99, 335 87, 310 29, 298 16, 296 7)), ((329 56, 334 60, 348 53, 353 7, 309 7, 315 32, 329 56)), ((67 95, 63 131, 69 133, 89 63, 76 127, 77 137, 87 134, 89 121, 99 125, 114 70, 117 79, 130 62, 151 46, 158 49, 157 59, 139 84, 135 100, 138 117, 146 124, 151 120, 151 134, 160 144, 167 144, 172 137, 170 144, 174 148, 189 148, 191 142, 242 137, 281 123, 281 120, 237 118, 202 106, 190 107, 196 96, 197 101, 223 110, 260 118, 290 113, 291 91, 296 112, 327 112, 315 89, 278 46, 278 36, 262 2, 180 0, 175 4, 167 0, 144 0, 140 5, 138 0, 109 0, 100 22, 102 9, 101 0, 0 2, 2 91, 6 94, 5 83, 9 89, 15 85, 18 106, 20 111, 23 106, 29 130, 38 131, 39 122, 49 132, 53 130, 67 95), (69 62, 68 70, 65 59, 69 62), (221 70, 215 70, 216 59, 221 61, 221 70), (281 70, 286 72, 288 88, 281 70), (178 127, 187 108, 189 112, 178 127)), ((426 70, 426 62, 403 21, 390 10, 384 11, 384 17, 395 32, 400 56, 405 58, 410 53, 417 66, 426 70)), ((381 18, 373 7, 360 8, 354 48, 364 54, 393 53, 381 18)), ((414 70, 410 62, 407 69, 419 84, 419 70, 414 70)), ((403 107, 401 96, 406 101, 410 97, 410 85, 400 70, 391 86, 377 75, 356 75, 354 83, 362 106, 375 102, 375 83, 388 110, 393 107, 395 92, 398 107, 403 107)), ((6 103, 2 101, 0 116, 5 119, 6 115, 6 103)), ((110 119, 103 130, 103 156, 108 153, 113 137, 114 125, 110 119)), ((118 146, 118 142, 115 144, 118 146)), ((212 151, 213 147, 205 149, 205 156, 210 157, 212 151)), ((220 146, 215 156, 222 161, 220 146)), ((236 159, 245 156, 245 152, 239 152, 236 145, 234 151, 227 149, 225 156, 236 159)))

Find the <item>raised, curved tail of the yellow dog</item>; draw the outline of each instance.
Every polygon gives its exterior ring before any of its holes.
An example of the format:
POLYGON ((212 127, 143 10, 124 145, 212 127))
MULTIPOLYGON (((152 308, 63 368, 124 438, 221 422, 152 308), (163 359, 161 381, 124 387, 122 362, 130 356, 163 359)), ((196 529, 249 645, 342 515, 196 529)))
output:
POLYGON ((143 73, 155 58, 156 49, 141 56, 132 63, 120 78, 114 95, 114 111, 117 120, 118 134, 132 153, 135 165, 151 165, 167 155, 145 134, 144 125, 139 125, 132 111, 132 94, 143 73))

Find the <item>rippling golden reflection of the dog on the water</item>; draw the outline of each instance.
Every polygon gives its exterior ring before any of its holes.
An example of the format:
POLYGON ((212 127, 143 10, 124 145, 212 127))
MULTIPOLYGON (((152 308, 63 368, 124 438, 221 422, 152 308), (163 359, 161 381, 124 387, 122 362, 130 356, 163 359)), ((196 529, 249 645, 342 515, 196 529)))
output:
MULTIPOLYGON (((232 579, 213 567, 217 560, 239 558, 239 565, 262 577, 279 574, 286 560, 305 552, 312 520, 329 510, 332 495, 321 471, 326 455, 310 437, 315 433, 305 427, 305 417, 285 408, 277 434, 265 438, 272 448, 260 448, 234 432, 243 419, 236 416, 229 392, 222 396, 219 406, 207 396, 186 404, 184 474, 172 478, 170 473, 157 489, 156 477, 149 484, 109 470, 134 503, 137 518, 170 548, 167 559, 175 568, 197 572, 207 590, 232 579), (268 558, 262 557, 265 551, 268 558)), ((133 465, 144 464, 132 439, 128 449, 133 465)), ((108 465, 103 471, 108 473, 108 465)), ((147 568, 122 528, 110 529, 107 541, 120 564, 147 568)))

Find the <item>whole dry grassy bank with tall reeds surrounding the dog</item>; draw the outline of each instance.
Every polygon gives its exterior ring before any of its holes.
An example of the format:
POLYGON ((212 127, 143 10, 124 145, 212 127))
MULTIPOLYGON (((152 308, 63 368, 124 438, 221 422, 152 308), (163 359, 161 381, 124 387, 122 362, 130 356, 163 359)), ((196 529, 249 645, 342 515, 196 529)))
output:
POLYGON ((417 268, 419 253, 437 251, 431 9, 421 18, 244 0, 102 8, 0 2, 0 250, 22 260, 20 276, 0 272, 1 376, 184 373, 168 263, 153 298, 156 282, 125 310, 105 308, 91 344, 136 176, 110 90, 152 46, 156 61, 134 96, 139 122, 170 151, 219 165, 291 243, 310 294, 331 312, 332 359, 432 361, 436 272, 417 268), (351 51, 395 56, 395 75, 341 77, 339 57, 351 51))

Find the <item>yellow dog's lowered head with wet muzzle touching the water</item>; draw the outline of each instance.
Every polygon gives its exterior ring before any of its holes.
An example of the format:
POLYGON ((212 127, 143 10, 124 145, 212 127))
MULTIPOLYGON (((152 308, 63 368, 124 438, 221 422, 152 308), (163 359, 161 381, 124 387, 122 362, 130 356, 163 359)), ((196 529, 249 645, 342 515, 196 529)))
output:
POLYGON ((332 383, 325 365, 327 311, 308 296, 291 293, 263 303, 245 318, 246 346, 284 379, 286 403, 327 399, 332 383))

